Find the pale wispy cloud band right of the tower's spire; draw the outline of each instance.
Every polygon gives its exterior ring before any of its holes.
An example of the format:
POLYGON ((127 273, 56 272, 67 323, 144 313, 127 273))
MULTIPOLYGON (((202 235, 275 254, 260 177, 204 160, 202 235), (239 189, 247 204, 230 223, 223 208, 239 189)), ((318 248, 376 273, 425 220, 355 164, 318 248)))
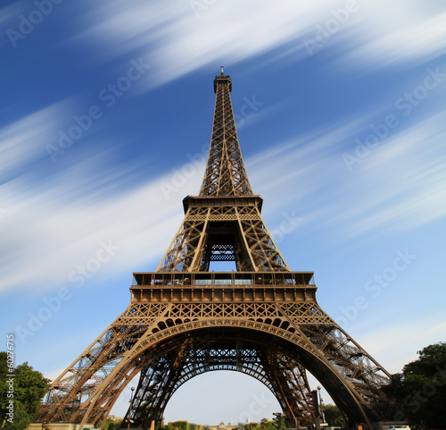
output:
POLYGON ((305 220, 335 225, 343 237, 414 228, 446 215, 445 120, 442 112, 400 130, 354 173, 339 148, 359 120, 340 123, 310 141, 285 142, 248 159, 250 177, 274 211, 287 204, 286 190, 294 201, 305 202, 300 207, 305 220))

